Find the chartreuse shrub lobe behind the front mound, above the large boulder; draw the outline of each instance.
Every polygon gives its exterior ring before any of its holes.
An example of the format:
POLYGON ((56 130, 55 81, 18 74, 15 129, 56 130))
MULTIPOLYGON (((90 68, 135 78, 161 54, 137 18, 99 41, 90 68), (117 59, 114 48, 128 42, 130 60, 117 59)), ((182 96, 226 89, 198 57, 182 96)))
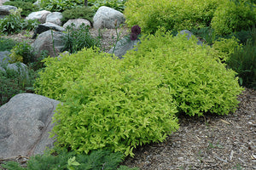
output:
POLYGON ((40 77, 35 84, 36 93, 63 101, 63 96, 69 88, 64 82, 74 82, 79 78, 83 74, 84 67, 96 54, 102 57, 105 55, 90 49, 86 51, 86 57, 83 52, 79 52, 76 57, 61 54, 61 62, 58 58, 44 59, 43 61, 47 61, 44 63, 46 67, 44 72, 39 72, 40 77))

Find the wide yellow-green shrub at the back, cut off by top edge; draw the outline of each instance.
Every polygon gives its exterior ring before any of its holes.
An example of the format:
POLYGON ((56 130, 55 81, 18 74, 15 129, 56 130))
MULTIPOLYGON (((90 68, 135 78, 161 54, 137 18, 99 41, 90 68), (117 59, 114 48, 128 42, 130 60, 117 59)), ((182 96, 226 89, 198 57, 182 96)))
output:
POLYGON ((210 26, 215 9, 224 0, 129 0, 125 3, 128 26, 141 26, 144 33, 158 27, 166 30, 190 30, 210 26))

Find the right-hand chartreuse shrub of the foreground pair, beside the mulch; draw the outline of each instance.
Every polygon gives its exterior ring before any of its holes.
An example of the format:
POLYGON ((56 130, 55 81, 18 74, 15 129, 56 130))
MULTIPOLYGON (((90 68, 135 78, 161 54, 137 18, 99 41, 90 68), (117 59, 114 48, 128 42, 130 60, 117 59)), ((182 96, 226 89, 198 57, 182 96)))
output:
POLYGON ((125 54, 125 62, 156 68, 162 74, 161 82, 172 89, 170 95, 180 112, 201 116, 235 111, 236 97, 242 91, 235 71, 218 62, 215 50, 196 42, 195 37, 188 41, 184 35, 172 37, 171 33, 158 31, 155 36, 143 38, 137 51, 125 54))

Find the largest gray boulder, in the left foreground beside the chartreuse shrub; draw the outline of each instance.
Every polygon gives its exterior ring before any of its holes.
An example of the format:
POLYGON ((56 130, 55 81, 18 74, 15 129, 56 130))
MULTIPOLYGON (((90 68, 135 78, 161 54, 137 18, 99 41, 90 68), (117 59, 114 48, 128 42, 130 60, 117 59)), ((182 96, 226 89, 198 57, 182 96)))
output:
POLYGON ((52 148, 51 118, 59 101, 37 94, 17 94, 0 107, 0 159, 44 154, 52 148))

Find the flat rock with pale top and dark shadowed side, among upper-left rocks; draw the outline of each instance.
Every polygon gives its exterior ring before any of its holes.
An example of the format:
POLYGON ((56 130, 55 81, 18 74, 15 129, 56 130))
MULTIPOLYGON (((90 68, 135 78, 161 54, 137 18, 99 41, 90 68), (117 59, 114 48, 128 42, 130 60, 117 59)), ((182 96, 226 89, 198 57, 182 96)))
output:
POLYGON ((65 28, 55 25, 54 23, 46 22, 44 24, 39 24, 32 36, 32 39, 36 38, 38 34, 43 33, 44 31, 49 31, 49 30, 54 30, 54 31, 65 31, 65 28))

